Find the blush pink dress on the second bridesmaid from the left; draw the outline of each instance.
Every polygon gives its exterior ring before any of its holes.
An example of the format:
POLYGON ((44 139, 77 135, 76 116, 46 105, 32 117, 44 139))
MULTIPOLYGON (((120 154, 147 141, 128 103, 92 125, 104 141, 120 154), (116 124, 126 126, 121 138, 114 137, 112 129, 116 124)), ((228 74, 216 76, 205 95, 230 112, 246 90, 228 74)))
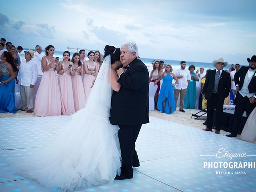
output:
MULTIPOLYGON (((69 64, 66 66, 64 62, 61 62, 61 65, 62 65, 62 69, 66 69, 68 68, 69 64)), ((74 96, 73 96, 70 70, 66 70, 64 73, 58 76, 58 83, 60 87, 62 114, 72 115, 75 113, 75 106, 74 106, 74 96)))

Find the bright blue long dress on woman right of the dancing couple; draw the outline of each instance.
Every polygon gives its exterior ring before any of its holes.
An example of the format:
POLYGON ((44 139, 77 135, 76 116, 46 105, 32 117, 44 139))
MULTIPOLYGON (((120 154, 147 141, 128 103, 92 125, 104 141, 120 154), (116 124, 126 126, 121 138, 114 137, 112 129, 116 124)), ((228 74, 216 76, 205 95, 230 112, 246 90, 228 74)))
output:
POLYGON ((173 77, 170 74, 167 74, 163 77, 163 83, 160 89, 160 93, 157 101, 157 108, 162 113, 166 114, 173 113, 175 109, 175 100, 174 100, 174 86, 172 86, 173 77), (165 101, 165 105, 163 102, 165 101))

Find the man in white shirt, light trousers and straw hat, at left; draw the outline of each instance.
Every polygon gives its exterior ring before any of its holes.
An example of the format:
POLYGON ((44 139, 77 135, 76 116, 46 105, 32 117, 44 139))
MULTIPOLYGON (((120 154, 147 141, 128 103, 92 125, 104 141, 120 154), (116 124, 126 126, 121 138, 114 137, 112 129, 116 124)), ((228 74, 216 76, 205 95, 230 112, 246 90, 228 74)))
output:
POLYGON ((37 78, 37 66, 32 60, 34 52, 32 50, 24 51, 25 59, 20 63, 20 70, 17 77, 17 84, 20 85, 20 96, 22 106, 19 110, 32 113, 34 109, 34 84, 37 78))

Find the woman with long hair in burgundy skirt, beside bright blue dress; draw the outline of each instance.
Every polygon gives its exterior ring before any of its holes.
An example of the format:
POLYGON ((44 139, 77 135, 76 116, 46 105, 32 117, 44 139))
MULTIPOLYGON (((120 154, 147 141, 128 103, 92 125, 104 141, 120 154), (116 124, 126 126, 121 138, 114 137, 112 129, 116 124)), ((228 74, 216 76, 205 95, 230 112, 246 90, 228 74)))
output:
POLYGON ((157 85, 157 90, 156 90, 156 94, 155 94, 155 110, 158 110, 156 108, 156 106, 157 106, 158 94, 160 91, 160 80, 162 79, 162 77, 160 75, 161 75, 160 63, 159 63, 159 61, 156 61, 153 64, 153 70, 151 71, 150 78, 149 78, 150 82, 154 82, 154 85, 157 85))

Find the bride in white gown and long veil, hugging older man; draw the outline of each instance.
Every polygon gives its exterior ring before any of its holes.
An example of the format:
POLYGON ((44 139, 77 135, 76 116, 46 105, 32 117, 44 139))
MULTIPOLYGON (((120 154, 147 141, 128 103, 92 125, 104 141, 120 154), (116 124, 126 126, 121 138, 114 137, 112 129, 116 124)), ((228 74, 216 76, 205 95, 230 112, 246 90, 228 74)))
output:
POLYGON ((109 122, 112 89, 120 89, 116 80, 120 48, 107 45, 104 52, 85 108, 72 115, 50 149, 12 165, 16 172, 62 191, 112 183, 120 175, 119 127, 109 122))

